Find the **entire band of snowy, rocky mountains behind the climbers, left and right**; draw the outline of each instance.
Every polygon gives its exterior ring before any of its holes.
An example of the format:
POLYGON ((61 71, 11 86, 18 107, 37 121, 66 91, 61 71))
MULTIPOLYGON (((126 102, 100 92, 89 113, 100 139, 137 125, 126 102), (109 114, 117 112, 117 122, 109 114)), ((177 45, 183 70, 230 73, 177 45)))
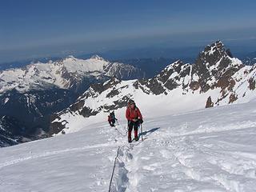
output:
POLYGON ((150 109, 143 111, 147 118, 248 102, 255 97, 255 68, 234 58, 217 41, 206 46, 194 63, 177 60, 153 78, 145 78, 137 67, 98 55, 3 70, 0 146, 80 130, 106 119, 112 110, 123 118, 130 98, 150 109))

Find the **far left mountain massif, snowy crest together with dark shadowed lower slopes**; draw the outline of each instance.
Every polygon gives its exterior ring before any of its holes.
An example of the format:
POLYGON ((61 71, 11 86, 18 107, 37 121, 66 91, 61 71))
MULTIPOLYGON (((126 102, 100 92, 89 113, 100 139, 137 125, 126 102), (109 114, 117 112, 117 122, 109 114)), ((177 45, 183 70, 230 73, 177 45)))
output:
MULTIPOLYGON (((0 71, 0 117, 15 119, 20 122, 16 123, 17 130, 23 130, 28 138, 37 138, 38 133, 49 129, 50 114, 74 103, 91 83, 105 82, 111 77, 142 78, 142 72, 98 55, 86 60, 70 56, 0 71)), ((3 129, 10 132, 10 127, 3 129)))

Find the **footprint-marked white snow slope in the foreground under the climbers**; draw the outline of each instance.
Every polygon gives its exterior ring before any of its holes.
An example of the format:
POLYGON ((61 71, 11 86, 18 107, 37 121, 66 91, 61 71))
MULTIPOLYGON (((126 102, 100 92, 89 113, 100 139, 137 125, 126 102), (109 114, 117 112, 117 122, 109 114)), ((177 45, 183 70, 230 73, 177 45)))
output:
POLYGON ((255 104, 155 114, 132 145, 122 114, 117 130, 97 122, 2 148, 0 191, 256 191, 255 104))

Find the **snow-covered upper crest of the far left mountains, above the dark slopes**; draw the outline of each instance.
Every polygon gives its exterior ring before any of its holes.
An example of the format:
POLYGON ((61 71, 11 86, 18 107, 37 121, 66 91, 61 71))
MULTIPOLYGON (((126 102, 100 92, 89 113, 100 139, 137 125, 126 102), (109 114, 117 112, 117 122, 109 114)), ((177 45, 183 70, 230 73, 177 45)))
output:
POLYGON ((70 56, 56 62, 33 63, 25 68, 0 72, 0 93, 6 90, 47 90, 57 86, 61 89, 77 87, 84 78, 138 78, 140 71, 134 66, 108 62, 98 55, 83 60, 70 56))

